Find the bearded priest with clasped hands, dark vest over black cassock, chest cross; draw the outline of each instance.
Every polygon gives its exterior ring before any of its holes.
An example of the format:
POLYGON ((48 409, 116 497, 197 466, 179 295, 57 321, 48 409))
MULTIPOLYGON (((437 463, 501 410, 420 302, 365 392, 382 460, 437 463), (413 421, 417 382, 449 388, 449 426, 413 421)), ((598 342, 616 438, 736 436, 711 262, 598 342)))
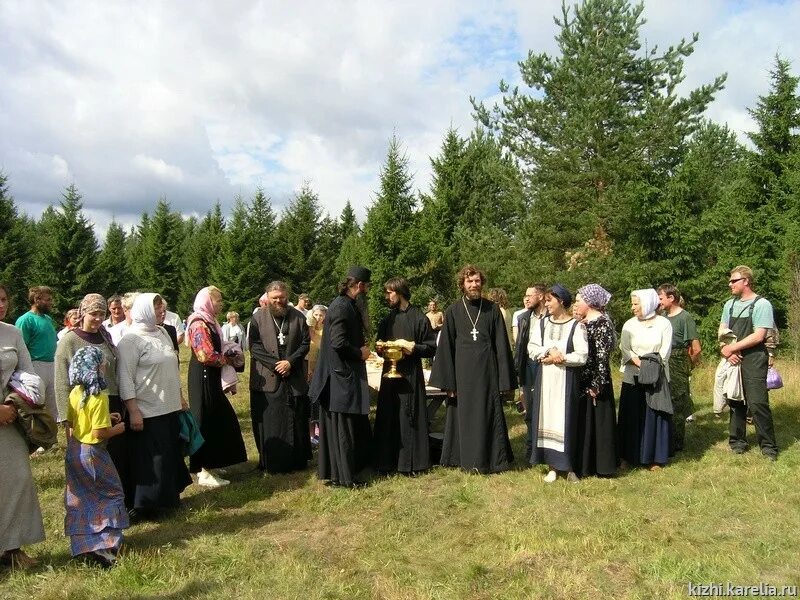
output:
POLYGON ((250 321, 250 415, 258 467, 289 473, 311 459, 305 366, 311 338, 305 317, 288 306, 286 284, 273 281, 265 296, 265 309, 250 321))

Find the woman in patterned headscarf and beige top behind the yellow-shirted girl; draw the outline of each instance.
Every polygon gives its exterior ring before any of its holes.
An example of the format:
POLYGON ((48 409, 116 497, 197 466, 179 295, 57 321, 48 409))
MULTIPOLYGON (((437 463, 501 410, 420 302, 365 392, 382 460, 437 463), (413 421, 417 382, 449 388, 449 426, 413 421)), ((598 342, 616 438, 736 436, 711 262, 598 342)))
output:
MULTIPOLYGON (((55 357, 56 370, 56 401, 58 402, 59 414, 66 414, 69 395, 72 387, 69 384, 69 365, 75 353, 85 346, 95 346, 103 352, 106 361, 105 378, 108 385, 108 401, 110 411, 119 413, 125 418, 125 405, 119 398, 119 387, 117 385, 117 350, 111 341, 106 328, 103 326, 103 319, 106 318, 106 300, 100 294, 86 294, 81 300, 78 308, 79 324, 67 332, 58 343, 55 357), (63 412, 62 412, 63 411, 63 412)), ((67 438, 69 439, 69 421, 65 422, 67 427, 67 438)), ((131 508, 131 477, 130 477, 130 458, 128 456, 127 434, 114 436, 108 440, 106 450, 108 450, 111 460, 119 473, 122 481, 122 488, 125 490, 125 504, 131 508)))

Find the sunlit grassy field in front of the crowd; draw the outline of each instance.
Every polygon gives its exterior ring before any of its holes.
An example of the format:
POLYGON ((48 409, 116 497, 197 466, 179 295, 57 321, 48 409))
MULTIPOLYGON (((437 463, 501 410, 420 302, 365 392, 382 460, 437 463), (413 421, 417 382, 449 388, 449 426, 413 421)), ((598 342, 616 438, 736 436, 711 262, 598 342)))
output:
MULTIPOLYGON (((436 468, 358 490, 313 470, 263 477, 245 391, 235 405, 250 461, 230 486, 193 485, 175 515, 131 527, 110 571, 70 558, 63 449, 35 459, 47 540, 27 550, 43 567, 0 571, 0 598, 685 598, 689 582, 800 585, 800 369, 779 368, 777 463, 752 430, 750 452, 728 451, 707 365, 685 452, 660 472, 577 485, 547 485, 519 458, 501 475, 436 468)), ((525 426, 507 418, 521 457, 525 426)))

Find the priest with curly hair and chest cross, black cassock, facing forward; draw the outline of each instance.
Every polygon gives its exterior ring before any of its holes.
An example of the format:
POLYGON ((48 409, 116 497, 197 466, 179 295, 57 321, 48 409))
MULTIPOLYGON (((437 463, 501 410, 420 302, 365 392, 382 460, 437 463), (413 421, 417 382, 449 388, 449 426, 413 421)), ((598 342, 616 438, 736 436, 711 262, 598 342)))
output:
POLYGON ((500 308, 481 295, 486 276, 467 265, 457 282, 430 377, 448 395, 442 465, 498 473, 514 460, 500 396, 516 387, 511 346, 500 308))

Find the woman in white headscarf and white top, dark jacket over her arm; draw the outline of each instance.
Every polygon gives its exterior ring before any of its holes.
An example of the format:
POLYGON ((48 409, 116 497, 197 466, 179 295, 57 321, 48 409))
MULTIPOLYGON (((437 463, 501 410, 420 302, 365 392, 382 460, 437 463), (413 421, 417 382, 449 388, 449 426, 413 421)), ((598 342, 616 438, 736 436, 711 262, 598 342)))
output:
POLYGON ((651 408, 648 394, 652 386, 639 382, 642 357, 653 354, 660 357, 663 376, 669 381, 672 325, 656 314, 657 308, 654 289, 631 292, 633 317, 622 326, 619 344, 623 378, 617 431, 622 468, 643 465, 654 471, 669 461, 672 414, 651 408))

